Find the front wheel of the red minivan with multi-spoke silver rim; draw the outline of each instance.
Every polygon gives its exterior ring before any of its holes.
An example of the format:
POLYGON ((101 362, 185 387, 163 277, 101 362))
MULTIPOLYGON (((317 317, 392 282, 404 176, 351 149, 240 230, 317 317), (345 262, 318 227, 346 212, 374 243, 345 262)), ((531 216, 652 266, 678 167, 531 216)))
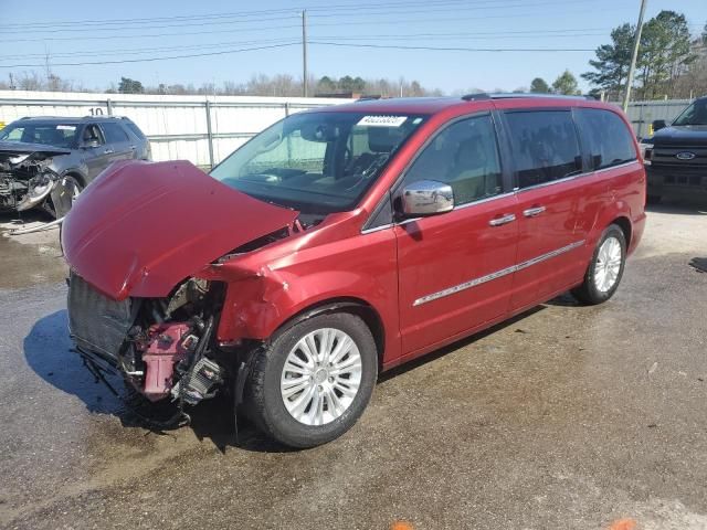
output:
POLYGON ((378 353, 368 326, 347 312, 318 315, 273 337, 250 375, 245 412, 277 442, 314 447, 351 428, 377 377, 378 353), (331 354, 321 356, 325 351, 331 354))

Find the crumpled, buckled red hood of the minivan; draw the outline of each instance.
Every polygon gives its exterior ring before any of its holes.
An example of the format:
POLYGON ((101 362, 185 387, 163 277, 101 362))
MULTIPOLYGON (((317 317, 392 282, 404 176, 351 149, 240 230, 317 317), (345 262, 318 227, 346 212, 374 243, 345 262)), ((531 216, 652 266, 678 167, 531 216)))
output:
POLYGON ((163 297, 298 212, 253 199, 190 162, 126 161, 78 197, 62 226, 70 266, 114 299, 163 297))

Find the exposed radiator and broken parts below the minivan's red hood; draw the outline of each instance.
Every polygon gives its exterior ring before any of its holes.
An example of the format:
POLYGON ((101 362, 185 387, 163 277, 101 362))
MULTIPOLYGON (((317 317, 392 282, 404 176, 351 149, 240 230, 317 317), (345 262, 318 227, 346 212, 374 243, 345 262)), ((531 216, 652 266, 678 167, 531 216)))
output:
POLYGON ((71 336, 94 374, 118 373, 148 400, 181 410, 213 398, 228 379, 212 346, 223 294, 218 282, 190 278, 166 298, 116 301, 72 274, 71 336))

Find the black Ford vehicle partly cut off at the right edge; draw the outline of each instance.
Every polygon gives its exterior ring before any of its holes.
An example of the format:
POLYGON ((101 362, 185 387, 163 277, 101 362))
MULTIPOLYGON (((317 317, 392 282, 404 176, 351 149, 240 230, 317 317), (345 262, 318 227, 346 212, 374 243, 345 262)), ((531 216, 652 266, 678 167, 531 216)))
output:
POLYGON ((656 132, 643 140, 648 199, 665 194, 707 199, 707 96, 695 99, 675 118, 653 123, 656 132))

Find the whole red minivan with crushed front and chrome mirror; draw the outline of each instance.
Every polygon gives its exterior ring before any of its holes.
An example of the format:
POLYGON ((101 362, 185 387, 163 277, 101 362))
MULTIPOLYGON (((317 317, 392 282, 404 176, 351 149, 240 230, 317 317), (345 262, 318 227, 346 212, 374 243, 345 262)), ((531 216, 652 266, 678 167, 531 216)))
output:
POLYGON ((101 375, 226 392, 283 444, 345 433, 378 374, 571 290, 608 300, 645 224, 621 110, 571 97, 294 114, 210 174, 122 162, 64 221, 70 329, 101 375))

